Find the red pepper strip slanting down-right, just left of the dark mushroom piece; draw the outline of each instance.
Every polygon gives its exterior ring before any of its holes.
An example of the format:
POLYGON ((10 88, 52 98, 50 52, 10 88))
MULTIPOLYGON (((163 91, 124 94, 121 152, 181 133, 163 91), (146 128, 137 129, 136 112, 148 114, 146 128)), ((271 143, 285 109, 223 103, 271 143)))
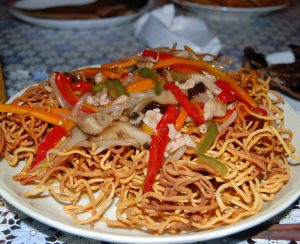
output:
POLYGON ((165 83, 164 87, 173 93, 176 100, 180 103, 180 105, 186 110, 188 115, 191 116, 197 124, 203 124, 205 122, 203 115, 201 115, 197 111, 197 109, 193 106, 188 97, 175 84, 167 82, 165 83))

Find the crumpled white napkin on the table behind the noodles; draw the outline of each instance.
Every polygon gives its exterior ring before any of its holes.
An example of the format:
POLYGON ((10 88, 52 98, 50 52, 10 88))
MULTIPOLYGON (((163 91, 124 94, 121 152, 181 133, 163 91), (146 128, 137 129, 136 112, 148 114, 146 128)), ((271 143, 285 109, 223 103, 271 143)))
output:
POLYGON ((188 45, 197 53, 214 55, 222 48, 219 38, 202 19, 176 16, 173 4, 166 4, 139 17, 134 23, 134 35, 149 48, 172 47, 176 43, 178 49, 188 45))

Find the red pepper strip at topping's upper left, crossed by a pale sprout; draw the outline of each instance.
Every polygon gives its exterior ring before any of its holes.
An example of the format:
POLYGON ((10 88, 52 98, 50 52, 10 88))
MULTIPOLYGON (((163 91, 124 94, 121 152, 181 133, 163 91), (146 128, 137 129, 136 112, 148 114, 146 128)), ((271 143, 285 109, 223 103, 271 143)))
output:
MULTIPOLYGON (((64 73, 60 72, 60 73, 56 73, 55 74, 55 83, 57 85, 58 90, 60 91, 61 95, 67 100, 67 102, 74 106, 77 101, 78 98, 75 96, 72 88, 71 88, 71 84, 68 81, 68 76, 65 76, 64 73)), ((95 111, 85 105, 82 105, 80 107, 80 110, 82 112, 86 112, 86 113, 94 113, 95 111)))

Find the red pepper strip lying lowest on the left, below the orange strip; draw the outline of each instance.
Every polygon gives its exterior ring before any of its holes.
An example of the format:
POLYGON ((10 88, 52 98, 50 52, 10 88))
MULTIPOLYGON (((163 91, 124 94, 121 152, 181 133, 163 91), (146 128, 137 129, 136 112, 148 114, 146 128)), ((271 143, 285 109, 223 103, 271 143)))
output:
POLYGON ((54 148, 55 145, 60 141, 61 138, 68 135, 68 130, 61 126, 54 126, 51 131, 49 131, 43 141, 40 143, 37 149, 36 157, 29 170, 35 168, 41 161, 46 158, 47 152, 54 148))

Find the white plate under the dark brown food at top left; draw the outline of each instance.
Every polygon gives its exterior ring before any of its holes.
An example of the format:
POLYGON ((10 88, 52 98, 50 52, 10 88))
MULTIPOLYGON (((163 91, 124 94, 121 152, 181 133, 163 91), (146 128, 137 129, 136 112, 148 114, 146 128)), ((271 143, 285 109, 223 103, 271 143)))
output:
POLYGON ((45 19, 33 17, 25 14, 24 12, 11 7, 9 12, 12 16, 28 22, 30 24, 47 27, 47 28, 56 28, 56 29, 92 29, 92 28, 103 28, 108 26, 114 26, 119 24, 128 23, 133 21, 135 18, 143 14, 145 11, 150 10, 153 7, 152 0, 148 1, 145 7, 141 8, 138 12, 124 15, 116 16, 110 18, 101 18, 101 19, 78 19, 78 20, 62 20, 62 19, 45 19))

